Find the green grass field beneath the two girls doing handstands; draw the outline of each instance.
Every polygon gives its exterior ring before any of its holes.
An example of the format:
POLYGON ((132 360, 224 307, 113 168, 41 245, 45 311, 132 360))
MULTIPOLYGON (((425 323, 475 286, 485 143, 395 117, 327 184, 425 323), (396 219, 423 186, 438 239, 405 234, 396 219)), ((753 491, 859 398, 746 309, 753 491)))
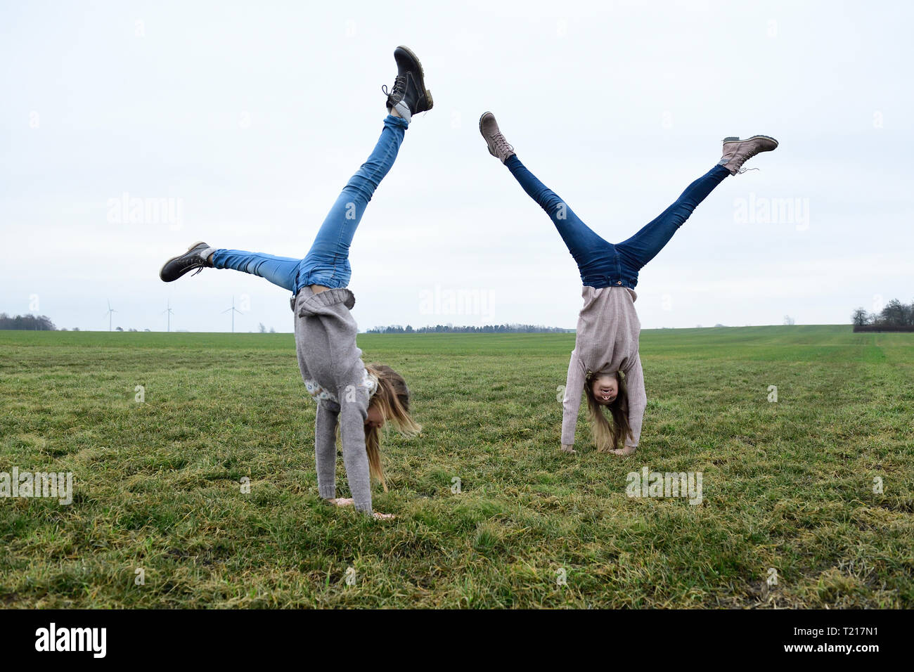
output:
POLYGON ((74 474, 69 506, 0 499, 0 606, 914 606, 914 334, 644 331, 625 458, 583 413, 558 450, 573 342, 359 336, 424 425, 376 521, 317 496, 292 336, 0 332, 0 472, 74 474), (703 503, 626 496, 644 466, 703 503))

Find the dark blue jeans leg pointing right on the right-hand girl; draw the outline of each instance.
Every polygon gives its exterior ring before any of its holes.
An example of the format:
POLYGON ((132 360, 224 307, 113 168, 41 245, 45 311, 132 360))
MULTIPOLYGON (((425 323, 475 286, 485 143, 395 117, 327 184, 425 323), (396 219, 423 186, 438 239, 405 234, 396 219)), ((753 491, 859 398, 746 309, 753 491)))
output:
POLYGON ((698 204, 729 174, 724 166, 715 165, 704 176, 686 187, 682 196, 657 219, 647 224, 632 238, 618 243, 616 250, 619 251, 622 260, 622 274, 637 283, 638 272, 643 266, 664 249, 664 245, 673 238, 673 234, 689 218, 698 204))

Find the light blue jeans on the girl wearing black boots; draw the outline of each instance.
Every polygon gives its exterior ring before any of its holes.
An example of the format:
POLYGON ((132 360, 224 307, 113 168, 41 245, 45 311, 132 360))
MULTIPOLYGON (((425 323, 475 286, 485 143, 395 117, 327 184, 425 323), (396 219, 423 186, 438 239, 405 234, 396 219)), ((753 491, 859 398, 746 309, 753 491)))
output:
POLYGON ((213 252, 213 266, 260 275, 296 294, 308 284, 345 287, 352 276, 349 245, 368 201, 394 165, 408 126, 406 120, 388 114, 374 151, 343 187, 304 259, 274 257, 262 252, 217 250, 213 252))

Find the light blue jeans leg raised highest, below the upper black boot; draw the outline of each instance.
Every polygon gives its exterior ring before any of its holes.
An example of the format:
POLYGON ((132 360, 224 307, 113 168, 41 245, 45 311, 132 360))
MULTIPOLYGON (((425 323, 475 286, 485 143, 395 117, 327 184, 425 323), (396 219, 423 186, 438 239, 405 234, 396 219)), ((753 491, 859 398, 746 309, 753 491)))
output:
POLYGON ((349 245, 368 201, 394 165, 408 126, 406 120, 388 114, 374 151, 343 187, 317 231, 311 250, 301 261, 293 289, 295 293, 308 284, 345 287, 349 283, 352 276, 349 245))

